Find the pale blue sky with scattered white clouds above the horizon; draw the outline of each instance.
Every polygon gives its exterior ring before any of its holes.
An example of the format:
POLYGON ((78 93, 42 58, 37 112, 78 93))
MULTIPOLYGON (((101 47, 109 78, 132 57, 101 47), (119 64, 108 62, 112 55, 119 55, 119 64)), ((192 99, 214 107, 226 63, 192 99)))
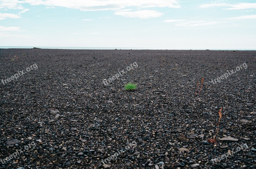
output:
POLYGON ((0 0, 0 46, 256 49, 256 0, 0 0))

